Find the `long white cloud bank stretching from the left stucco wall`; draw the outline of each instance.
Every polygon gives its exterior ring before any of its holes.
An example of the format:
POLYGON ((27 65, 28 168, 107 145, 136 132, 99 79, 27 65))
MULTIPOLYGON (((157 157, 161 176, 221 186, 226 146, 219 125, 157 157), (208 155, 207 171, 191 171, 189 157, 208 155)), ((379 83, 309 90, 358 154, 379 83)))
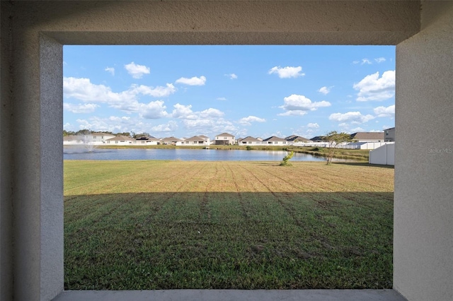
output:
POLYGON ((149 87, 147 85, 132 85, 128 90, 115 93, 110 87, 91 83, 88 78, 63 78, 63 91, 65 98, 75 98, 84 102, 106 103, 109 107, 125 112, 141 112, 143 116, 166 116, 161 110, 156 114, 156 107, 164 107, 161 100, 158 102, 139 102, 139 95, 154 97, 168 96, 175 93, 176 88, 171 83, 166 87, 149 87), (161 105, 162 104, 162 105, 161 105))

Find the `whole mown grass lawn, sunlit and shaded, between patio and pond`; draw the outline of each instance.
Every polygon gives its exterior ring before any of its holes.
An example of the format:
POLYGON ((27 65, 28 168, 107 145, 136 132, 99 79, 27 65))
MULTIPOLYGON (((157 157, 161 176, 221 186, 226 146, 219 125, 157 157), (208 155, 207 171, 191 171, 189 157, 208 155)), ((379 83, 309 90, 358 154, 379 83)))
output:
POLYGON ((64 162, 67 290, 391 288, 394 169, 64 162))

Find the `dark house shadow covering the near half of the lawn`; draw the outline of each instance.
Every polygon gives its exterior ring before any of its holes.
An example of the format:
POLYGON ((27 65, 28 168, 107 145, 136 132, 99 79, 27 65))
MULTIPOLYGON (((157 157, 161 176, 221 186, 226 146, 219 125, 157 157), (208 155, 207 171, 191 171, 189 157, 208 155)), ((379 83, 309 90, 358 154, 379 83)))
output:
POLYGON ((64 197, 66 290, 391 288, 392 192, 64 197))

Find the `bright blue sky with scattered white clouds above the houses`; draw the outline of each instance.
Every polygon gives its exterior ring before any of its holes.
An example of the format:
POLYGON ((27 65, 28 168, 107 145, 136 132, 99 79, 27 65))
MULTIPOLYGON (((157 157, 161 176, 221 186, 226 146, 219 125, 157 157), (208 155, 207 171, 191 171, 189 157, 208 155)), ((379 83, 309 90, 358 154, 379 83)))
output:
POLYGON ((64 46, 64 129, 305 138, 394 126, 394 46, 64 46))

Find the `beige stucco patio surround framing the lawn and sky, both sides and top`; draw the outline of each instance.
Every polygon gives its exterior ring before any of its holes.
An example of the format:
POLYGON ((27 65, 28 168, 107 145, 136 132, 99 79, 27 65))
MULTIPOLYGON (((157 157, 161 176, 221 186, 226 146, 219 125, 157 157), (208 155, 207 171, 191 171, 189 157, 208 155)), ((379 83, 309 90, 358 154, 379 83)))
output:
POLYGON ((419 9, 418 1, 1 1, 0 299, 50 300, 63 288, 64 44, 399 44, 395 288, 408 300, 452 297, 453 160, 427 149, 451 141, 453 11, 449 1, 424 3, 415 35, 419 9))

